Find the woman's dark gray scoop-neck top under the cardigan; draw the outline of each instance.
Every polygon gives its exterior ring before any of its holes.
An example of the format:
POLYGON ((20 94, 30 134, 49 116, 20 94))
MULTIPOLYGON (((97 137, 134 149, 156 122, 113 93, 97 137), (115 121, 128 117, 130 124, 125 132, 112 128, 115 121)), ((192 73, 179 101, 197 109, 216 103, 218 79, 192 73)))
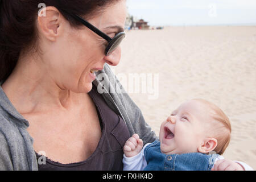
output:
MULTIPOLYGON (((39 171, 121 171, 123 169, 123 146, 130 138, 129 130, 123 119, 104 101, 104 98, 97 92, 96 86, 93 86, 89 96, 92 98, 98 111, 98 117, 101 122, 102 136, 96 150, 86 160, 61 164, 46 158, 45 163, 39 163, 39 171)), ((38 161, 40 155, 36 154, 38 161)))

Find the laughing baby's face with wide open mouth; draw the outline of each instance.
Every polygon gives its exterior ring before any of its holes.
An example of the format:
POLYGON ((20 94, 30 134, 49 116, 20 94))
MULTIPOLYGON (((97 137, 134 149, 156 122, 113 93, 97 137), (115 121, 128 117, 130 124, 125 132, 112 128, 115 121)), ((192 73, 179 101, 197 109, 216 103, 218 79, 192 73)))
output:
POLYGON ((181 104, 160 127, 159 140, 164 154, 199 152, 197 148, 207 137, 210 121, 208 107, 199 101, 181 104))

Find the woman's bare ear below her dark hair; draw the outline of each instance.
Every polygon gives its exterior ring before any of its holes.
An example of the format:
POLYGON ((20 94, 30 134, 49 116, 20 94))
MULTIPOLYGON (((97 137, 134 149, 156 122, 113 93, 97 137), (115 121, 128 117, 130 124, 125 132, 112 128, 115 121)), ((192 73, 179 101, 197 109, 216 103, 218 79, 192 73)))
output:
MULTIPOLYGON (((59 34, 61 14, 60 11, 53 6, 47 6, 41 11, 45 12, 45 16, 38 16, 38 29, 48 40, 55 41, 59 34)), ((39 14, 41 13, 39 12, 39 14)))

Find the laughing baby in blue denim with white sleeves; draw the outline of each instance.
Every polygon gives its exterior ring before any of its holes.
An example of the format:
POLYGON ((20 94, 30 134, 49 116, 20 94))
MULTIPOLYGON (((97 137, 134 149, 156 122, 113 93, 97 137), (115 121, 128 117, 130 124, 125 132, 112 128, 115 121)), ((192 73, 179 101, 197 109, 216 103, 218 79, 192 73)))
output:
POLYGON ((242 164, 220 160, 230 133, 229 118, 216 105, 201 99, 185 102, 162 123, 159 140, 143 147, 134 134, 126 141, 123 169, 243 170, 242 164))

